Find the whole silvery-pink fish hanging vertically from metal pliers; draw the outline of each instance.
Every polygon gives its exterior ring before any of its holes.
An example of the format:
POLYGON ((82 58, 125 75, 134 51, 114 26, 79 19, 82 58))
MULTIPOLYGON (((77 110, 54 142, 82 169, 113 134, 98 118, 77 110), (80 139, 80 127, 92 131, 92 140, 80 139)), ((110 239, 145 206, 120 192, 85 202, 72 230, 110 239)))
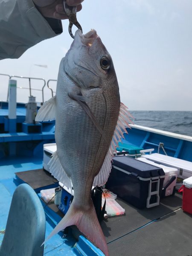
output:
POLYGON ((85 35, 76 31, 60 63, 56 94, 44 103, 35 120, 55 120, 57 151, 49 169, 57 180, 74 190, 69 210, 47 239, 76 225, 108 256, 91 189, 108 180, 113 152, 127 133, 130 114, 120 102, 111 55, 94 29, 85 35))

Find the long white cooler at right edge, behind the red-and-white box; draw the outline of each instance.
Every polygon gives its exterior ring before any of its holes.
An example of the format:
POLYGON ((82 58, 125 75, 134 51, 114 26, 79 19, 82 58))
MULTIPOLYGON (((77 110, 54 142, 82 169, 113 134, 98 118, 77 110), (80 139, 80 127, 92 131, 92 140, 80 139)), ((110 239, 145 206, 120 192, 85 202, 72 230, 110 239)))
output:
POLYGON ((180 187, 183 185, 183 180, 186 178, 189 178, 192 176, 192 162, 175 158, 175 157, 169 157, 163 154, 146 154, 142 157, 147 158, 148 160, 151 160, 155 163, 160 163, 165 166, 170 166, 177 168, 177 183, 176 183, 176 189, 180 189, 180 187))

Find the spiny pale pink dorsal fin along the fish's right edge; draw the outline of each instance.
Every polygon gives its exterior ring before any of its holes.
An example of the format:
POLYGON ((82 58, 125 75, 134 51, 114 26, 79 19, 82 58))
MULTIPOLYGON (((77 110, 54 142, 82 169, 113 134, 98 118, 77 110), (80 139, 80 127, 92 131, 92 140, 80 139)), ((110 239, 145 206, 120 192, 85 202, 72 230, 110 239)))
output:
MULTIPOLYGON (((124 137, 123 133, 128 133, 126 128, 130 128, 128 122, 131 122, 131 114, 128 112, 128 108, 124 104, 120 104, 119 118, 117 120, 116 128, 111 140, 111 145, 109 147, 108 153, 106 154, 105 160, 103 162, 102 168, 98 175, 94 178, 93 186, 104 185, 111 172, 111 161, 113 157, 113 152, 116 152, 116 147, 118 147, 118 142, 124 137)), ((132 117, 133 118, 133 117, 132 117)))

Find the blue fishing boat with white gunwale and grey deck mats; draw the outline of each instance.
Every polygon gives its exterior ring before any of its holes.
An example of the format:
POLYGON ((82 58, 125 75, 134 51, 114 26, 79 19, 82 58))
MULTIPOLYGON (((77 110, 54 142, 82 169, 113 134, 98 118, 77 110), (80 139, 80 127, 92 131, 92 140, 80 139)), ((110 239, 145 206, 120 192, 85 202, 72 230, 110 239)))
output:
MULTIPOLYGON (((63 216, 54 203, 46 204, 40 193, 42 189, 59 186, 58 181, 43 169, 43 145, 55 143, 55 122, 26 122, 26 103, 15 102, 14 107, 16 96, 11 88, 16 91, 14 79, 17 77, 8 75, 8 78, 9 101, 0 102, 0 244, 5 236, 12 197, 21 184, 29 184, 44 207, 45 237, 63 216)), ((25 79, 29 80, 29 96, 32 97, 30 80, 34 78, 25 79)), ((46 86, 53 93, 45 82, 41 90, 41 104, 46 86)), ((30 100, 29 103, 34 103, 32 98, 30 100)), ((122 144, 119 144, 118 154, 126 157, 167 154, 192 164, 192 137, 140 125, 130 126, 122 144)), ((101 224, 110 256, 192 255, 192 215, 183 212, 181 193, 176 191, 175 195, 161 198, 158 206, 144 209, 138 209, 119 197, 116 201, 125 209, 125 214, 108 218, 101 224)), ((104 255, 76 228, 71 227, 67 231, 67 234, 60 232, 46 241, 39 255, 104 255)), ((19 233, 18 230, 18 236, 19 233)), ((17 233, 14 236, 16 239, 17 233)), ((27 241, 29 243, 30 240, 22 241, 19 246, 26 247, 27 241)))

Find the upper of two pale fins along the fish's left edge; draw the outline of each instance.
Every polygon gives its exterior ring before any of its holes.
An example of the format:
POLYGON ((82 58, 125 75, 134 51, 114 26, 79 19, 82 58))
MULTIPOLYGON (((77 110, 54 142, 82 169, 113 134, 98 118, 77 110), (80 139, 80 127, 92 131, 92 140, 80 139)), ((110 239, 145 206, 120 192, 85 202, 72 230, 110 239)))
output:
POLYGON ((52 97, 39 109, 35 121, 52 121, 55 120, 55 106, 56 106, 56 97, 52 97))

